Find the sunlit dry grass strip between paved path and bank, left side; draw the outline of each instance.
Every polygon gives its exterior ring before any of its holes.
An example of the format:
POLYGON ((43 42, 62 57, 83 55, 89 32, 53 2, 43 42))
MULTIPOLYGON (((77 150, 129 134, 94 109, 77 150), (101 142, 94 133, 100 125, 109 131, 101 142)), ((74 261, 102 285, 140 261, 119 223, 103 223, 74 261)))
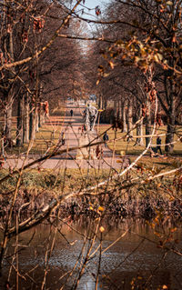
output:
MULTIPOLYGON (((5 168, 0 170, 0 179, 8 175, 5 168)), ((64 190, 76 191, 86 186, 93 186, 106 180, 110 176, 110 170, 86 169, 26 169, 22 175, 21 189, 31 191, 33 194, 38 190, 46 190, 50 193, 54 190, 58 194, 64 190)), ((0 192, 5 194, 15 190, 17 175, 10 176, 5 182, 0 184, 0 192)), ((1 200, 1 199, 0 199, 1 200)))

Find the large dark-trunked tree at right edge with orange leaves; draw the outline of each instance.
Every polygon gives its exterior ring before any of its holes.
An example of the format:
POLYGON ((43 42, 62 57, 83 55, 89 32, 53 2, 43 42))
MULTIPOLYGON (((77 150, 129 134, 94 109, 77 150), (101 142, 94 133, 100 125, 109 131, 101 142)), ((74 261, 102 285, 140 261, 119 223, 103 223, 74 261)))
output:
MULTIPOLYGON (((113 68, 108 76, 120 83, 127 80, 124 90, 128 93, 134 84, 135 102, 143 106, 143 116, 148 124, 147 135, 150 134, 150 109, 155 99, 159 101, 158 115, 161 109, 167 115, 166 151, 173 151, 175 125, 180 122, 177 112, 181 107, 181 1, 143 1, 127 2, 114 0, 108 5, 104 18, 102 35, 115 41, 114 45, 105 45, 102 55, 106 64, 113 68), (104 23, 106 26, 104 26, 104 23), (130 75, 118 73, 127 67, 130 75), (133 71, 139 78, 132 81, 133 71), (152 75, 152 77, 151 77, 152 75), (141 81, 143 79, 143 82, 141 81), (145 93, 145 99, 138 95, 137 83, 145 93), (152 86, 152 87, 151 87, 152 86), (147 110, 145 109, 147 108, 147 110)), ((108 69, 103 67, 100 76, 106 75, 108 69)), ((108 83, 107 83, 108 84, 108 83)), ((114 81, 113 81, 114 85, 114 81)), ((110 85, 106 85, 107 89, 110 85)), ((116 92, 116 85, 115 85, 116 92)), ((141 94, 141 92, 140 92, 141 94)), ((123 93, 121 93, 124 99, 123 93)), ((144 95, 144 94, 142 94, 144 95)), ((118 94, 116 96, 118 99, 118 94)), ((142 110, 141 110, 142 112, 142 110)), ((152 111, 151 111, 152 113, 152 111)), ((141 116, 141 115, 140 115, 141 116)), ((157 120, 155 120, 157 122, 157 120)))

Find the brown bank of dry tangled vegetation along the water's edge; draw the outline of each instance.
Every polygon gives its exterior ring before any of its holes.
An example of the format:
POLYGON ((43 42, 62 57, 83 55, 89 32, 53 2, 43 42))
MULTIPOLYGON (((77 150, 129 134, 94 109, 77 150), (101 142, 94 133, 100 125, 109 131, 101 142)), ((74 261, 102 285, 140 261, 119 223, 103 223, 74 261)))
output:
MULTIPOLYGON (((45 205, 49 205, 56 198, 49 192, 30 194, 26 190, 19 191, 15 201, 14 215, 21 217, 34 215, 41 211, 45 205)), ((6 219, 11 206, 9 195, 1 196, 0 217, 6 219)), ((182 217, 182 203, 179 199, 168 199, 166 195, 147 195, 141 198, 138 195, 99 195, 90 197, 88 195, 76 196, 56 207, 52 214, 59 214, 61 217, 69 215, 88 215, 95 217, 102 212, 102 215, 114 215, 123 217, 153 218, 157 212, 169 215, 173 218, 182 217)))

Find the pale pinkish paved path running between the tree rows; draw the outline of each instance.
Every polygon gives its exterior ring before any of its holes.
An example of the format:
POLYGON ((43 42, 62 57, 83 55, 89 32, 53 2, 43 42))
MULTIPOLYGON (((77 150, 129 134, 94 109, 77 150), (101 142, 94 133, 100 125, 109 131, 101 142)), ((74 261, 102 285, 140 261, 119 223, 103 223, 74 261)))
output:
MULTIPOLYGON (((97 138, 96 134, 96 126, 95 130, 91 133, 89 132, 84 137, 81 133, 81 127, 83 125, 83 117, 82 112, 84 111, 86 105, 76 105, 76 103, 67 103, 66 107, 66 118, 65 118, 65 125, 63 127, 63 131, 65 132, 65 138, 66 138, 66 144, 63 146, 63 148, 70 148, 75 147, 80 144, 86 145, 87 142, 96 140, 94 142, 101 141, 97 138), (73 109, 74 115, 70 116, 70 110, 73 109), (87 140, 87 141, 86 141, 87 140), (88 141, 89 140, 89 141, 88 141)), ((50 121, 52 122, 53 119, 50 117, 50 121)), ((91 147, 96 150, 95 147, 91 147)), ((69 153, 65 153, 63 155, 56 155, 54 157, 51 157, 50 159, 45 160, 44 162, 41 162, 37 165, 34 165, 34 167, 41 167, 41 168, 111 168, 114 167, 116 170, 120 168, 120 164, 116 163, 116 155, 113 155, 113 152, 108 149, 108 147, 105 145, 102 145, 103 148, 103 157, 100 159, 90 159, 90 160, 78 160, 76 159, 76 156, 79 154, 77 150, 71 151, 69 153)), ((86 149, 85 149, 86 150, 86 149)), ((92 149, 93 151, 93 149, 92 149)), ((28 159, 28 161, 25 164, 28 164, 35 160, 37 158, 36 156, 33 156, 32 158, 28 159)), ((5 161, 5 167, 20 167, 23 164, 23 159, 18 158, 15 159, 7 159, 5 161)))

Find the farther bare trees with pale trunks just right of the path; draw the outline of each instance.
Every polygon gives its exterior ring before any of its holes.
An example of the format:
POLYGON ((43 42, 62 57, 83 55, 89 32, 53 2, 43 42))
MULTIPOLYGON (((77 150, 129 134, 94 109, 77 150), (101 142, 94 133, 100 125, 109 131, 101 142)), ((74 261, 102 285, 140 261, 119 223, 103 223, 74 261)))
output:
MULTIPOLYGON (((103 18, 103 23, 108 22, 108 25, 103 25, 102 30, 98 30, 97 37, 110 40, 109 42, 95 42, 92 47, 91 63, 97 70, 95 77, 95 85, 98 99, 101 99, 101 107, 106 108, 108 100, 114 102, 114 118, 118 119, 122 130, 127 131, 128 135, 132 135, 133 116, 140 118, 138 115, 141 112, 144 95, 138 83, 145 82, 141 72, 131 64, 121 65, 120 59, 115 58, 115 64, 111 57, 108 57, 107 52, 115 43, 116 39, 128 39, 129 28, 126 25, 118 25, 113 23, 113 15, 116 19, 126 13, 117 11, 115 5, 109 5, 107 8, 106 18, 103 18), (127 34, 128 33, 128 34, 127 34), (97 58, 97 62, 95 59, 97 58), (99 62, 98 62, 99 60, 99 62), (98 65, 97 65, 98 64, 98 65), (137 104, 137 105, 136 105, 137 104)), ((114 19, 115 21, 115 19, 114 19)), ((113 56, 116 53, 113 54, 113 56)), ((142 120, 138 123, 138 135, 141 135, 142 120)), ((137 144, 142 144, 142 139, 137 139, 137 144)))

